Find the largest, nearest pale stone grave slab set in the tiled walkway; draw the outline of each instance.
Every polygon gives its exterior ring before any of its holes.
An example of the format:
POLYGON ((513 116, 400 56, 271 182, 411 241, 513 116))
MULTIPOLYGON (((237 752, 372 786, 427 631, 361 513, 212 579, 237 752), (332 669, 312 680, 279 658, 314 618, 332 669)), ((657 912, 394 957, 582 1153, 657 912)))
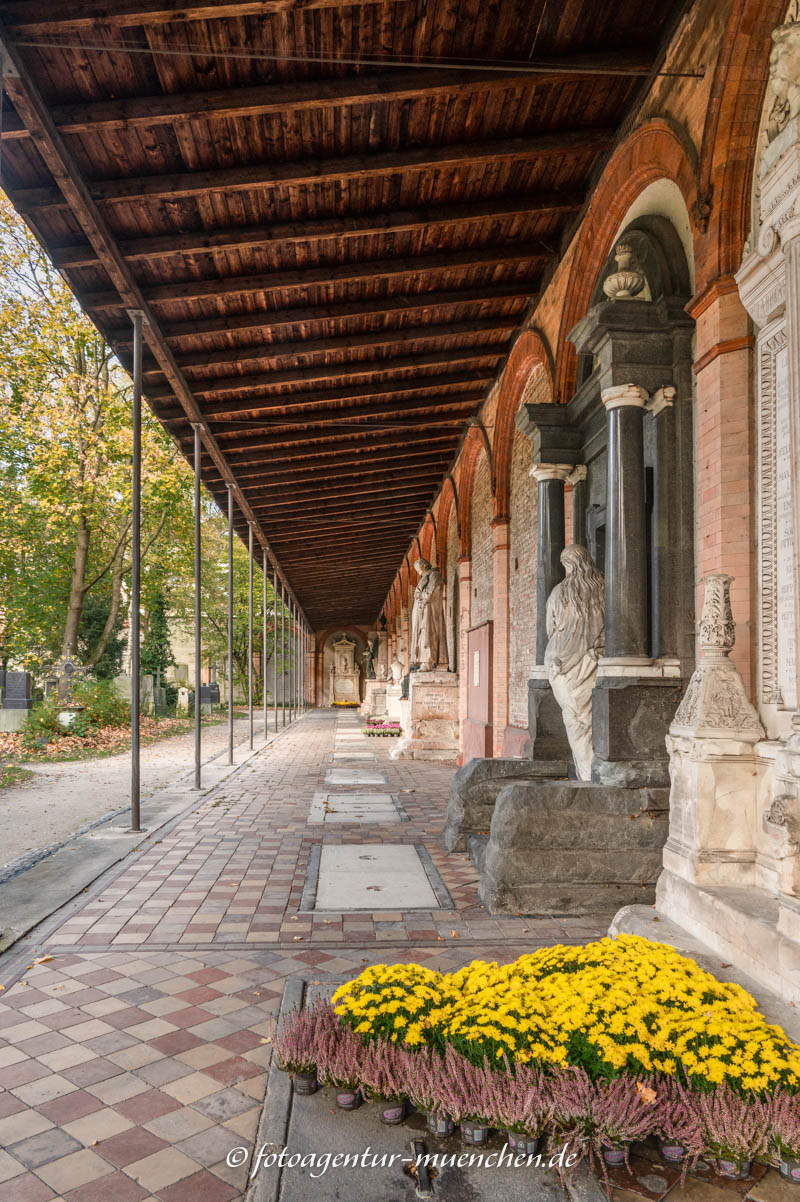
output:
POLYGON ((326 845, 320 856, 316 910, 438 910, 413 844, 326 845))

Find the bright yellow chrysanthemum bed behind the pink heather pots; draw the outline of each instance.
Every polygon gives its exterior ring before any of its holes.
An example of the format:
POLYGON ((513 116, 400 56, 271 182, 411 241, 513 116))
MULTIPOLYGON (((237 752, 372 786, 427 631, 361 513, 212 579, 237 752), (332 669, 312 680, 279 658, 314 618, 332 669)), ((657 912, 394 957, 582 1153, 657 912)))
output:
POLYGON ((377 964, 333 1001, 368 1040, 450 1043, 476 1064, 507 1057, 581 1065, 595 1078, 663 1072, 695 1089, 727 1081, 742 1093, 800 1093, 800 1046, 741 986, 637 935, 545 947, 513 964, 473 960, 452 974, 377 964))

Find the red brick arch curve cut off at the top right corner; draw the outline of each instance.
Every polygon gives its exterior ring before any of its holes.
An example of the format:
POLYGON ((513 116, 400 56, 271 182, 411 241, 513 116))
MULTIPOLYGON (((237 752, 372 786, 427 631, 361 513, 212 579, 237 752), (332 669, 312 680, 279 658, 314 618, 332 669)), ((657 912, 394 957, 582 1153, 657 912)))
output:
MULTIPOLYGON (((753 166, 766 93, 771 34, 788 0, 734 5, 717 56, 700 149, 697 292, 735 272, 750 234, 753 166), (706 226, 708 222, 708 226, 706 226)), ((689 210, 691 212, 691 210, 689 210)))

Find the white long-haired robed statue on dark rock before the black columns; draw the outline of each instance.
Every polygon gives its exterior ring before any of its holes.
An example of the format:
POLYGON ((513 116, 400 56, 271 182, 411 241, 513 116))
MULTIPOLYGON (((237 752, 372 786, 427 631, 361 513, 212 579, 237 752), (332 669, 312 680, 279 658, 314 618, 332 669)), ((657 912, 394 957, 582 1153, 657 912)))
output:
POLYGON ((604 650, 605 585, 585 547, 561 552, 566 577, 548 597, 544 664, 579 780, 591 780, 592 689, 604 650))

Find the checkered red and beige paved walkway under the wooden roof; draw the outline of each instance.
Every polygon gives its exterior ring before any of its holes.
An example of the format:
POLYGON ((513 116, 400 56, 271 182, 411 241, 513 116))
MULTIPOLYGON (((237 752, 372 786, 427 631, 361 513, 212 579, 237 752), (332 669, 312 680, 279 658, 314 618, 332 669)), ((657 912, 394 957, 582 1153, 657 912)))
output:
MULTIPOLYGON (((0 1202, 240 1198, 246 1168, 225 1158, 255 1138, 288 976, 351 975, 386 958, 447 970, 604 934, 609 915, 486 915, 466 856, 441 844, 452 768, 392 761, 393 740, 339 739, 336 751, 374 751, 363 763, 386 773, 407 822, 309 823, 314 795, 336 792, 324 784, 334 763, 358 770, 334 761, 336 727, 357 728, 309 714, 143 843, 50 924, 42 963, 14 972, 0 959, 0 1202), (422 845, 454 909, 300 912, 321 841, 422 845)), ((639 1176, 649 1189, 619 1202, 661 1196, 655 1166, 639 1176)))

